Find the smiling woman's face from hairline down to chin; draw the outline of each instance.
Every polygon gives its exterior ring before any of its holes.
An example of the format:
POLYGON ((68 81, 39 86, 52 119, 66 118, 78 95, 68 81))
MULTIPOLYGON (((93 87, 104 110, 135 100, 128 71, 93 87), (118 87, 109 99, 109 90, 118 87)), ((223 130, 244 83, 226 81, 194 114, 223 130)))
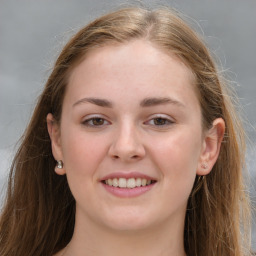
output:
POLYGON ((206 147, 201 123, 193 75, 176 57, 140 40, 91 51, 71 74, 60 127, 49 128, 77 220, 182 223, 206 147))

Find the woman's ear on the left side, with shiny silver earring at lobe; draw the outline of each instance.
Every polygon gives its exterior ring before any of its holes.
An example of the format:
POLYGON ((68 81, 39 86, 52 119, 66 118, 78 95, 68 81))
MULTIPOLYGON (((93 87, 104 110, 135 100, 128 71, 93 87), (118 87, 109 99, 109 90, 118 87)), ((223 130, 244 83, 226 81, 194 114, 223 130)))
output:
MULTIPOLYGON (((54 119, 53 115, 49 113, 46 117, 47 129, 51 138, 52 154, 56 161, 62 160, 62 149, 61 149, 61 136, 59 124, 54 119)), ((55 172, 59 175, 64 175, 66 173, 64 168, 55 167, 55 172)))

